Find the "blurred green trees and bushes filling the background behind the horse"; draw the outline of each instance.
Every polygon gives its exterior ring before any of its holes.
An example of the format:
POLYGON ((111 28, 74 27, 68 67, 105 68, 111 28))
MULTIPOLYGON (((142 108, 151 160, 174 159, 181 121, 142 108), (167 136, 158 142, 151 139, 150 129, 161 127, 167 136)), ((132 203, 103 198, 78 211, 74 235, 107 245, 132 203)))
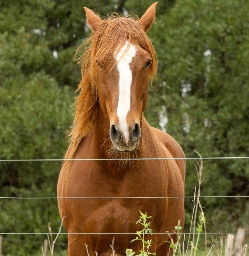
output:
MULTIPOLYGON (((83 6, 139 17, 151 0, 0 0, 0 159, 61 159, 89 36, 83 6)), ((149 37, 158 75, 145 117, 186 157, 249 156, 249 1, 159 0, 149 37)), ((186 196, 197 185, 187 160, 186 196)), ((0 162, 0 196, 56 196, 61 162, 0 162)), ((249 160, 204 160, 203 196, 249 195, 249 160)), ((249 231, 248 198, 202 198, 208 232, 249 231)), ((186 231, 193 202, 186 199, 186 231)), ((56 199, 0 199, 1 233, 57 232, 56 199)), ((42 235, 5 235, 4 255, 41 255, 42 235)), ((210 239, 210 238, 209 238, 210 239)), ((66 255, 66 236, 56 255, 66 255)))

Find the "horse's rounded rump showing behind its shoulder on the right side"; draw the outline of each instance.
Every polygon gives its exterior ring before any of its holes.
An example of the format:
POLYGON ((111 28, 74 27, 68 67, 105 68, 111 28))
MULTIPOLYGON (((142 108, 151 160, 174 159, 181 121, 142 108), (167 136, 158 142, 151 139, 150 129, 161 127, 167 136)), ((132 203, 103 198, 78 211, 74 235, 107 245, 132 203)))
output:
MULTIPOLYGON (((183 149, 178 144, 178 142, 173 139, 168 133, 161 131, 155 127, 151 127, 151 130, 155 137, 161 142, 161 144, 168 149, 173 158, 185 158, 183 149)), ((185 159, 176 159, 176 164, 181 172, 183 182, 185 180, 185 171, 186 171, 186 160, 185 159)))

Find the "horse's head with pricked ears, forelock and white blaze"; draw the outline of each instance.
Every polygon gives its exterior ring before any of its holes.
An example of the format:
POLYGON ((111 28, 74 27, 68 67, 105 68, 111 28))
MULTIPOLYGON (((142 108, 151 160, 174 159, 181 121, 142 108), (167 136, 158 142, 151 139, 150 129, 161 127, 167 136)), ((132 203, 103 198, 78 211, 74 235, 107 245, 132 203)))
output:
POLYGON ((132 152, 139 146, 148 81, 157 65, 146 35, 155 18, 156 4, 139 20, 118 15, 102 20, 84 7, 92 30, 90 80, 96 84, 98 102, 108 116, 110 139, 117 152, 132 152))

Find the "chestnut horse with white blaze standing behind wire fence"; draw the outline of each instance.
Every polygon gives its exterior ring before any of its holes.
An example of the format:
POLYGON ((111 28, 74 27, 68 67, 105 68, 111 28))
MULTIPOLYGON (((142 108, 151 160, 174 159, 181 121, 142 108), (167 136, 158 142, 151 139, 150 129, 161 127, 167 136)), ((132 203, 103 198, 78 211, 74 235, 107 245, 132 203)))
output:
POLYGON ((140 19, 118 14, 101 19, 84 7, 91 35, 76 51, 82 77, 57 186, 69 256, 122 256, 128 248, 139 254, 141 241, 131 243, 141 229, 139 211, 152 216, 154 234, 144 239, 152 239, 149 251, 157 256, 172 254, 167 241, 171 236, 176 242, 172 231, 178 220, 184 226, 186 161, 154 158, 185 155, 143 114, 157 69, 146 35, 156 4, 140 19))

